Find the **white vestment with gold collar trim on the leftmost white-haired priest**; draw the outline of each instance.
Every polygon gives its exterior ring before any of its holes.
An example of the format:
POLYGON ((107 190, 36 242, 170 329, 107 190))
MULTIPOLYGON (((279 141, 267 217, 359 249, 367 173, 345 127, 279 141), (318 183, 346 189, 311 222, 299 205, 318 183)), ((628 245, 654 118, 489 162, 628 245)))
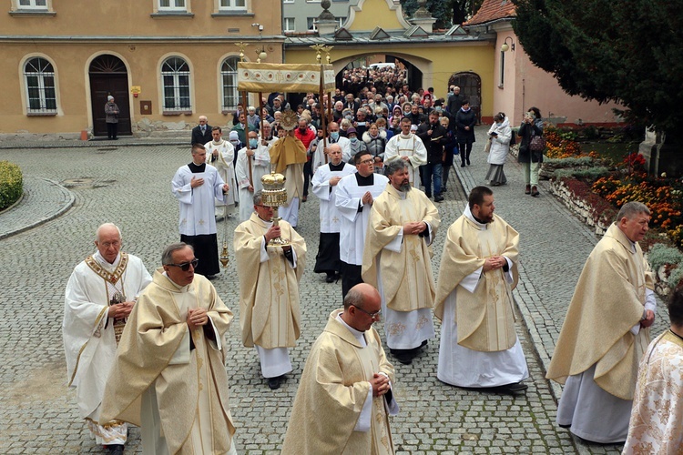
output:
POLYGON ((105 383, 117 352, 114 319, 106 314, 109 301, 116 292, 134 300, 152 280, 139 258, 125 256, 123 268, 121 254, 109 264, 97 251, 74 268, 66 284, 62 330, 67 380, 76 387, 79 415, 88 420, 97 444, 126 442, 126 423, 107 428, 99 424, 105 383), (93 268, 101 268, 100 273, 93 268))

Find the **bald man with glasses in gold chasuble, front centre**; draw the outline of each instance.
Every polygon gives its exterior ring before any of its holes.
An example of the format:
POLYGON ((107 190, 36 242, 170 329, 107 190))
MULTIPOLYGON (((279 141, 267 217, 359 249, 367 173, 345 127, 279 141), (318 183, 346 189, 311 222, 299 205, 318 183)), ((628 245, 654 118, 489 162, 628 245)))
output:
POLYGON ((285 434, 284 455, 394 452, 389 416, 398 414, 393 367, 372 324, 382 299, 361 283, 332 311, 303 369, 285 434))

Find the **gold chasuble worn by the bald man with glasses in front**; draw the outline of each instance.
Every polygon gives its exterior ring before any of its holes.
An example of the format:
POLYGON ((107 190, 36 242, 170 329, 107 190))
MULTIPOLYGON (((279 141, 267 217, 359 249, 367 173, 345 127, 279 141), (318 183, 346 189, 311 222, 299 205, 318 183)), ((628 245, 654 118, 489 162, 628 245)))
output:
POLYGON ((385 396, 372 397, 369 431, 354 431, 373 373, 393 382, 393 367, 375 329, 364 332, 363 348, 337 320, 335 309, 313 344, 301 375, 282 445, 283 455, 379 455, 393 453, 385 396))

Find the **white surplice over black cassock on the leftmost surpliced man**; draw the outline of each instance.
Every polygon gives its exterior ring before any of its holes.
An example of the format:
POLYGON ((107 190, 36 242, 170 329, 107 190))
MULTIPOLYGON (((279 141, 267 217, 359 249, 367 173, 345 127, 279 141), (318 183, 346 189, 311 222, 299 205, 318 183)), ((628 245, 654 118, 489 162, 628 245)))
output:
POLYGON ((185 236, 201 236, 216 234, 216 217, 214 199, 224 201, 223 179, 218 169, 206 165, 204 172, 192 173, 189 167, 178 168, 171 181, 171 191, 180 205, 180 234, 185 236), (190 187, 190 181, 203 178, 204 185, 190 187))

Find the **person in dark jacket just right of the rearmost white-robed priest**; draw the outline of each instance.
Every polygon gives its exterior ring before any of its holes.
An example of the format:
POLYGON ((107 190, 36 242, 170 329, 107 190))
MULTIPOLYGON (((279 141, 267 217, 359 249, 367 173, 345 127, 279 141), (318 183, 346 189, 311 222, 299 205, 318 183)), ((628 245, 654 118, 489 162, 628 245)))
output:
POLYGON ((429 120, 417 128, 417 136, 427 148, 427 164, 423 165, 424 193, 432 197, 432 177, 434 181, 434 202, 443 201, 441 177, 443 165, 443 146, 448 141, 448 132, 439 123, 439 113, 433 111, 429 120))

